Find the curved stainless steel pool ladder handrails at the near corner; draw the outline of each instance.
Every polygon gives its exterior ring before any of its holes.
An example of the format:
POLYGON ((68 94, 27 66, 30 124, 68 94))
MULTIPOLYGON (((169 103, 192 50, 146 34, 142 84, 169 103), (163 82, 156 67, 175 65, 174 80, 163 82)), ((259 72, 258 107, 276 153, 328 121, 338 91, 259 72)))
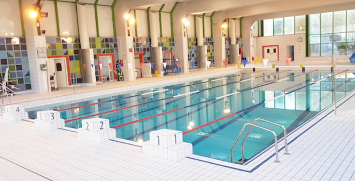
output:
POLYGON ((275 155, 276 155, 276 160, 275 160, 275 162, 277 162, 277 163, 280 162, 280 161, 279 161, 279 150, 278 150, 278 148, 277 148, 277 135, 276 135, 276 133, 275 133, 274 131, 268 129, 268 128, 265 128, 265 127, 256 125, 255 122, 256 122, 257 120, 262 120, 262 121, 265 121, 265 122, 269 122, 269 123, 278 125, 278 126, 280 126, 280 127, 283 129, 283 135, 284 135, 284 139, 285 139, 285 151, 286 151, 284 154, 290 154, 290 153, 288 153, 288 148, 287 148, 287 133, 286 133, 285 127, 284 127, 283 125, 281 125, 281 124, 278 124, 278 123, 276 123, 276 122, 272 122, 272 121, 270 121, 270 120, 266 120, 266 119, 262 119, 262 118, 257 118, 257 119, 254 119, 254 122, 253 122, 253 123, 245 123, 244 126, 243 126, 243 128, 242 128, 242 130, 240 131, 240 133, 239 133, 239 135, 238 135, 236 141, 234 142, 234 144, 233 144, 233 146, 232 146, 232 148, 231 148, 231 162, 232 162, 232 163, 234 163, 234 162, 233 162, 233 149, 234 149, 234 147, 236 146, 236 144, 237 144, 237 142, 238 142, 240 136, 242 135, 242 133, 243 133, 243 131, 244 131, 244 129, 245 129, 245 127, 246 127, 247 125, 251 125, 251 127, 249 128, 249 131, 248 131, 247 135, 245 135, 244 140, 243 140, 243 142, 242 142, 242 158, 239 159, 239 160, 237 161, 237 163, 242 164, 242 163, 244 163, 245 161, 248 160, 248 159, 245 159, 245 158, 244 158, 244 142, 245 142, 245 140, 247 139, 247 137, 248 137, 250 131, 253 129, 254 126, 255 126, 255 127, 258 127, 258 128, 261 128, 261 129, 264 129, 264 130, 269 131, 269 132, 271 132, 272 134, 274 134, 274 137, 275 137, 275 155))

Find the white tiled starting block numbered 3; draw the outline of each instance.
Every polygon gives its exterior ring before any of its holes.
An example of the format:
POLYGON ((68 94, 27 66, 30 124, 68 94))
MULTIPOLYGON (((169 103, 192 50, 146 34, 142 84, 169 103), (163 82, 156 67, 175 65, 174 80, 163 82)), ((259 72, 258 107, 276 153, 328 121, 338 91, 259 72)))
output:
POLYGON ((35 127, 53 130, 59 127, 65 127, 64 119, 60 118, 60 112, 55 110, 45 110, 37 112, 35 127))

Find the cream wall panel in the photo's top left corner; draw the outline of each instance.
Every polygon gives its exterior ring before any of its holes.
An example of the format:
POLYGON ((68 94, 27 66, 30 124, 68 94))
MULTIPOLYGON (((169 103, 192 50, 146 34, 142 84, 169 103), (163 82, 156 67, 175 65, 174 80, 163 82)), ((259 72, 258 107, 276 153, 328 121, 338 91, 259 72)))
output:
POLYGON ((18 0, 0 0, 0 36, 22 36, 18 0))

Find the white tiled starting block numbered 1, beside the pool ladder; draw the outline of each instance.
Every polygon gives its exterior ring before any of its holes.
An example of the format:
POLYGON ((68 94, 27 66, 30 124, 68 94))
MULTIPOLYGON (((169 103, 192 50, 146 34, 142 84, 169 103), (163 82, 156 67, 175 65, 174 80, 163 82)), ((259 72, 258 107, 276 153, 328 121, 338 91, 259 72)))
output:
POLYGON ((143 153, 180 161, 193 154, 191 143, 183 142, 183 132, 171 129, 159 129, 149 132, 149 141, 143 143, 143 153))

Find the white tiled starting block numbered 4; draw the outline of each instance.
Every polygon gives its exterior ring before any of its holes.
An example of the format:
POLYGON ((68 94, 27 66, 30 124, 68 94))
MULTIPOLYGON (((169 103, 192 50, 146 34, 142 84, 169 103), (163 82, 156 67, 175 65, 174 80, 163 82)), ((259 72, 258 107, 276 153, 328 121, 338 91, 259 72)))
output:
POLYGON ((23 105, 5 105, 4 119, 19 121, 29 118, 29 113, 25 112, 23 105))

